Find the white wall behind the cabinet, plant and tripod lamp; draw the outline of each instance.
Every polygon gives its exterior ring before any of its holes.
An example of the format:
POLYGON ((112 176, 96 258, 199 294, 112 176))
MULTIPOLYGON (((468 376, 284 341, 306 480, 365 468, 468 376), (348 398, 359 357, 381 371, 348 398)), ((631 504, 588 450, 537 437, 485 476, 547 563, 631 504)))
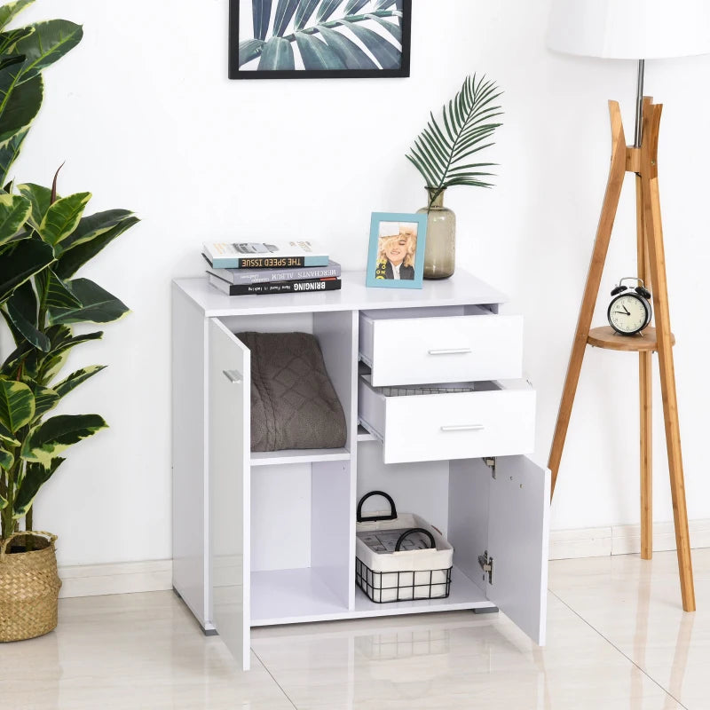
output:
MULTIPOLYGON (((345 267, 364 267, 370 212, 422 206, 422 179, 404 155, 429 110, 474 71, 504 88, 506 115, 489 154, 497 186, 447 197, 458 264, 525 314, 547 459, 608 170, 606 99, 623 102, 631 133, 633 63, 549 53, 547 3, 524 0, 414 0, 412 76, 390 80, 230 82, 227 0, 37 0, 24 14, 51 17, 83 23, 85 37, 45 74, 16 177, 48 185, 66 160, 61 193, 90 189, 91 211, 130 208, 143 220, 83 272, 133 312, 72 361, 110 365, 67 411, 98 411, 111 429, 76 446, 36 503, 36 527, 60 535, 60 564, 170 557, 169 284, 201 273, 201 241, 308 234, 345 267)), ((710 517, 708 75, 710 58, 647 65, 647 92, 666 104, 661 190, 694 518, 710 517)), ((598 323, 613 282, 635 273, 633 209, 629 182, 598 323)), ((635 402, 635 358, 588 351, 554 527, 638 519, 635 402)), ((656 435, 654 517, 668 520, 660 419, 656 435)))

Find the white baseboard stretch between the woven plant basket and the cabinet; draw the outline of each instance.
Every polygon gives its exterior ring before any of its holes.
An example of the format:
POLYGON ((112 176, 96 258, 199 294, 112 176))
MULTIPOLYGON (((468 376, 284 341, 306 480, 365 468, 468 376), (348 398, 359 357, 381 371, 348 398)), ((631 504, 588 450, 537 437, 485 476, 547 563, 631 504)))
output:
POLYGON ((59 567, 59 597, 157 592, 172 588, 172 560, 59 567))

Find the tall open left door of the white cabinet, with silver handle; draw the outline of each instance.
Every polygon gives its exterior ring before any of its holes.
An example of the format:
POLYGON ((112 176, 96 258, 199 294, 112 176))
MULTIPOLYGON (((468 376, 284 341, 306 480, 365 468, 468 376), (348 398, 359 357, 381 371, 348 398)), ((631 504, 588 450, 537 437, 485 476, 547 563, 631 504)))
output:
POLYGON ((209 319, 210 590, 217 633, 249 667, 249 419, 247 347, 209 319))

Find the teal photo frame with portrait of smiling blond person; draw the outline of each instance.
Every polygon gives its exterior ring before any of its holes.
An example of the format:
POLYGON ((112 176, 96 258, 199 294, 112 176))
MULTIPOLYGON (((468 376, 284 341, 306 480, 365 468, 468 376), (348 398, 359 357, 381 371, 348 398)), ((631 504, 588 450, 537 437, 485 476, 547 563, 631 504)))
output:
POLYGON ((365 285, 422 288, 426 239, 426 215, 373 212, 365 285))

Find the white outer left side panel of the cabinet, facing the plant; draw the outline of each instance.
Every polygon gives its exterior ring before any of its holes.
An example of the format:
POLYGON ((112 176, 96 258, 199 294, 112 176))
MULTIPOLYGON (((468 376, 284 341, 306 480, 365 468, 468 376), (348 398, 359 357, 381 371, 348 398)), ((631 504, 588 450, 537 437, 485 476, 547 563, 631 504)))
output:
POLYGON ((175 285, 172 293, 172 583, 205 627, 211 620, 206 591, 206 320, 175 285))

